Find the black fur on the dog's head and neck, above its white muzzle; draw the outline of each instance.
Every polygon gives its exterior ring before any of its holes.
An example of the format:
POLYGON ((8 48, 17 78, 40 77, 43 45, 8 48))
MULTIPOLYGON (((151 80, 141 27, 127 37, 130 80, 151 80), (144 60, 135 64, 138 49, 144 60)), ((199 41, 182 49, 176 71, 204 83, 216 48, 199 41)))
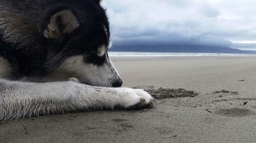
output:
MULTIPOLYGON (((63 61, 79 55, 86 64, 108 65, 110 74, 120 80, 108 57, 110 26, 100 2, 0 2, 2 8, 6 7, 0 10, 0 17, 6 17, 0 22, 0 57, 13 67, 10 78, 46 77, 63 61)), ((98 75, 103 80, 101 76, 98 75)))

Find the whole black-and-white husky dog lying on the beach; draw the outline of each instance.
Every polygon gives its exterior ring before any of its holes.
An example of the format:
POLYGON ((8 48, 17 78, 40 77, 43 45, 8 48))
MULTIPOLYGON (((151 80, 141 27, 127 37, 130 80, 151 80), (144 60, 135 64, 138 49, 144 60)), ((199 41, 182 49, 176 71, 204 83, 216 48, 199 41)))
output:
POLYGON ((99 0, 1 0, 0 121, 150 105, 143 90, 119 88, 110 46, 99 0))

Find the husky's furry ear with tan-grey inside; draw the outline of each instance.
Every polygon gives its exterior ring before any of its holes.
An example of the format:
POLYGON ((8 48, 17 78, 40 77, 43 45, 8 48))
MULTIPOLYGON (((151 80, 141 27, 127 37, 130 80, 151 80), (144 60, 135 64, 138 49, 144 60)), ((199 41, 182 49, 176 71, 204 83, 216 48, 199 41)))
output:
POLYGON ((50 14, 44 36, 47 39, 58 39, 72 33, 78 27, 79 21, 74 11, 69 8, 60 8, 50 14))

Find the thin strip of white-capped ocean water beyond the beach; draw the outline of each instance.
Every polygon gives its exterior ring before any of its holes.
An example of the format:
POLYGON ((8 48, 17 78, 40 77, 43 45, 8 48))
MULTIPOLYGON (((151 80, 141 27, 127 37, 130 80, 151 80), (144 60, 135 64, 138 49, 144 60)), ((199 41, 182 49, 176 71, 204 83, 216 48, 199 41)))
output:
POLYGON ((179 56, 256 56, 256 54, 235 53, 184 53, 184 52, 109 52, 112 58, 147 58, 147 57, 179 57, 179 56))

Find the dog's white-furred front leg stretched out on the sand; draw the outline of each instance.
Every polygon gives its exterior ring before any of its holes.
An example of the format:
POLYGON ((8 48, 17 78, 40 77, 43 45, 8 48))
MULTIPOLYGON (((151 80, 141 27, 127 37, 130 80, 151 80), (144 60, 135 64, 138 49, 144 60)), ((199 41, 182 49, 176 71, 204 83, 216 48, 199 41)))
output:
POLYGON ((74 81, 31 83, 0 80, 0 120, 74 110, 140 109, 153 98, 143 90, 100 88, 74 81))

